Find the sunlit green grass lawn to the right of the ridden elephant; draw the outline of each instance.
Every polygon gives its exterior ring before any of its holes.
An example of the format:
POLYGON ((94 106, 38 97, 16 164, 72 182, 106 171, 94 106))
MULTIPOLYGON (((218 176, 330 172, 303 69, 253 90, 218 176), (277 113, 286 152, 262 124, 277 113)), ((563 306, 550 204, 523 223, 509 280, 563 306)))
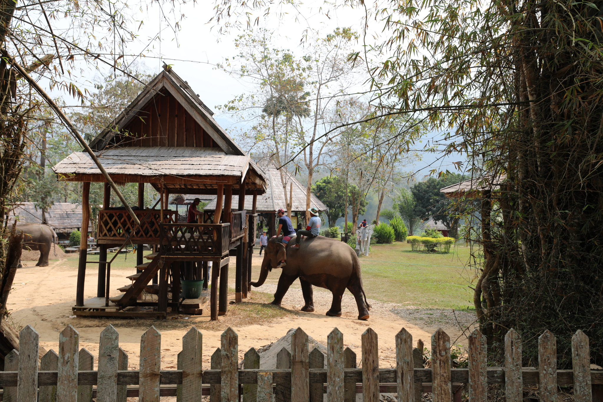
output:
POLYGON ((437 254, 411 251, 406 242, 371 244, 370 255, 360 259, 364 291, 368 298, 408 306, 473 309, 469 259, 469 247, 437 254))

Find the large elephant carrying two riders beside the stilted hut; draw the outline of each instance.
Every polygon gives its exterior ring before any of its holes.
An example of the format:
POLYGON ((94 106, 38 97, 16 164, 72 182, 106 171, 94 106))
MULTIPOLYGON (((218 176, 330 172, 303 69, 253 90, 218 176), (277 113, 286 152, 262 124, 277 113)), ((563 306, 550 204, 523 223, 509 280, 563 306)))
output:
POLYGON ((250 282, 251 286, 262 286, 268 277, 268 272, 277 268, 280 261, 286 257, 286 265, 282 268, 274 301, 271 304, 280 306, 289 286, 299 278, 305 301, 301 311, 314 311, 312 299, 312 285, 314 285, 329 289, 333 294, 327 316, 341 316, 341 297, 348 289, 356 299, 358 319, 369 318, 368 310, 371 306, 362 289, 360 260, 347 243, 316 236, 312 239, 306 237, 300 242, 300 248, 292 249, 293 244, 295 244, 295 236, 288 244, 282 243, 282 236, 268 240, 260 277, 257 282, 250 282))

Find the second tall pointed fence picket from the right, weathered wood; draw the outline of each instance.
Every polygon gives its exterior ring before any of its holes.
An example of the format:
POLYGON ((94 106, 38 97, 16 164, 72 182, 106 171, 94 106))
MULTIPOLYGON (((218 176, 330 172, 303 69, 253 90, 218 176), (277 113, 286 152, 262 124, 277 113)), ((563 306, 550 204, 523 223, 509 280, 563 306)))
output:
POLYGON ((546 330, 538 337, 538 389, 541 402, 557 402, 557 339, 546 330))

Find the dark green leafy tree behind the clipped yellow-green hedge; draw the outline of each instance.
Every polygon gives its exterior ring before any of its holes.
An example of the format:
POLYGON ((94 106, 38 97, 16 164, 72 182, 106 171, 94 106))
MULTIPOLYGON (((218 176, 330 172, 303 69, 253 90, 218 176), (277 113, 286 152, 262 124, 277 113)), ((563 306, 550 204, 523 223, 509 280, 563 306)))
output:
POLYGON ((434 222, 442 222, 450 231, 450 237, 456 237, 459 214, 451 209, 455 203, 446 198, 440 189, 467 179, 464 175, 452 173, 439 179, 430 177, 415 184, 411 188, 415 199, 414 214, 423 219, 432 218, 434 222))

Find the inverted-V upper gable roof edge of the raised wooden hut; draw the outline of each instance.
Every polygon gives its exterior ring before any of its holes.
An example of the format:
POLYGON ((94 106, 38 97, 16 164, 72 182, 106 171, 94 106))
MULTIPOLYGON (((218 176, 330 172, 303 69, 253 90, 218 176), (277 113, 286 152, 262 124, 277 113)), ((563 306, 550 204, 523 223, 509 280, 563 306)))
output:
POLYGON ((189 87, 188 83, 178 77, 174 70, 168 68, 168 66, 163 66, 163 71, 148 83, 145 89, 136 96, 136 99, 119 114, 109 127, 105 128, 98 137, 90 142, 90 148, 94 151, 102 151, 106 148, 113 137, 115 137, 115 134, 130 123, 136 117, 136 114, 143 110, 145 105, 163 89, 167 90, 177 99, 226 154, 245 155, 245 152, 236 145, 229 134, 213 119, 213 111, 201 101, 199 96, 189 87))

